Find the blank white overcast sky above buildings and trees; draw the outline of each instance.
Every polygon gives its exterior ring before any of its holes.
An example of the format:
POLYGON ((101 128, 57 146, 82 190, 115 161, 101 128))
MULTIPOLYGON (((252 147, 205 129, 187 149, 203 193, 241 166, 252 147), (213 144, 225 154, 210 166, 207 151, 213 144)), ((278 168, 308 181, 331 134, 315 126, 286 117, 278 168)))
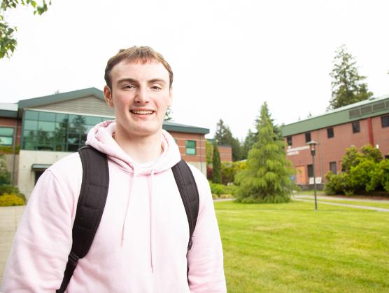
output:
MULTIPOLYGON (((7 13, 13 57, 0 60, 0 102, 104 87, 120 48, 152 46, 174 71, 177 123, 243 139, 264 101, 278 124, 323 114, 334 52, 346 44, 374 96, 389 94, 389 1, 52 0, 7 13)), ((211 136, 208 135, 208 136, 211 136)))

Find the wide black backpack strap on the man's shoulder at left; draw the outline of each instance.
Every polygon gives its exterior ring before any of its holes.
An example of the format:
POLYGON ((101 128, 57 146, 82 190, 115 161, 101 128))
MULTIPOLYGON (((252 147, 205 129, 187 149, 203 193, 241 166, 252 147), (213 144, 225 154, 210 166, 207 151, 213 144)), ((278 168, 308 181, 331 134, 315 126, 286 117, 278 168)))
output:
POLYGON ((73 245, 64 278, 57 293, 65 292, 78 259, 85 257, 89 251, 100 224, 108 194, 109 172, 106 155, 90 146, 78 149, 78 153, 83 164, 83 183, 73 224, 73 245))

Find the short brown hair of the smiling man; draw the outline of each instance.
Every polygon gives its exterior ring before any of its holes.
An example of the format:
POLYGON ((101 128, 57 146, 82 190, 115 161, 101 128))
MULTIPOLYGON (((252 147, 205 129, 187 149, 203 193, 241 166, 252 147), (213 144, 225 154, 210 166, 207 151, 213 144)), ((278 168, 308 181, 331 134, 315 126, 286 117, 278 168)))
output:
POLYGON ((171 70, 169 63, 164 60, 164 57, 157 51, 153 50, 153 48, 147 46, 133 46, 127 49, 120 49, 118 54, 108 60, 106 71, 104 73, 104 79, 111 90, 111 70, 116 64, 122 62, 123 60, 126 60, 127 62, 143 62, 143 64, 150 62, 151 60, 161 62, 169 72, 169 88, 171 88, 171 84, 173 83, 173 71, 171 70))

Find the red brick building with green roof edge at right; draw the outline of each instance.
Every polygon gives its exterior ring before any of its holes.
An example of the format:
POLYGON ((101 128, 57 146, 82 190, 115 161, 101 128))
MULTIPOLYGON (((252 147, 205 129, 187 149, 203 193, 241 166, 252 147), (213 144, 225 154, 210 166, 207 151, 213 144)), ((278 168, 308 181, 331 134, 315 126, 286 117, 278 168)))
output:
POLYGON ((341 158, 346 148, 365 144, 380 149, 389 158, 389 95, 372 98, 323 115, 307 118, 282 127, 287 156, 297 169, 296 183, 313 184, 312 156, 307 142, 316 146, 316 183, 325 174, 341 172, 341 158))

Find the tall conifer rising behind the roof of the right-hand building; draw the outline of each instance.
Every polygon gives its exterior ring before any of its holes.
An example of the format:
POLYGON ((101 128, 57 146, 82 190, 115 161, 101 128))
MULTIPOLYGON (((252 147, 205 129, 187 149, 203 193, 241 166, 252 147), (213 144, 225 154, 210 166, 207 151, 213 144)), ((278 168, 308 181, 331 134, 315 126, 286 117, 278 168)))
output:
POLYGON ((358 67, 353 55, 347 52, 345 45, 337 48, 334 57, 332 77, 332 99, 327 109, 337 109, 372 97, 373 93, 367 90, 366 76, 358 73, 358 67))

